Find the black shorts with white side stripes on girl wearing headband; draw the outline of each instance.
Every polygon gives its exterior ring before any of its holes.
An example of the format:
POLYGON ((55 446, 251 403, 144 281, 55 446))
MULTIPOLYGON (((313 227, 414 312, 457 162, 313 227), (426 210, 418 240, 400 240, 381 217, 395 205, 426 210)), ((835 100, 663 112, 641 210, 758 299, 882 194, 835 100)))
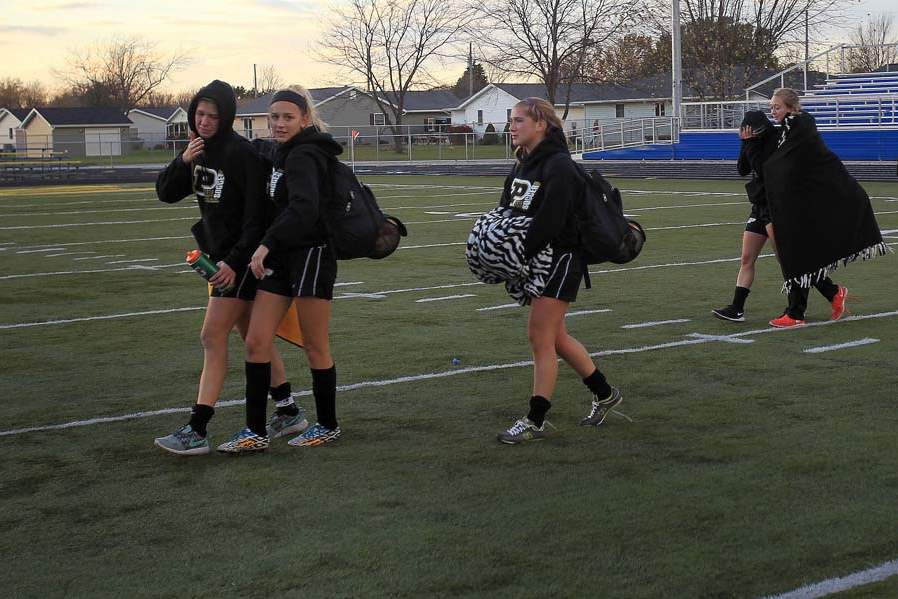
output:
POLYGON ((337 258, 327 245, 299 248, 265 258, 272 270, 259 281, 259 289, 285 297, 334 299, 337 258))

